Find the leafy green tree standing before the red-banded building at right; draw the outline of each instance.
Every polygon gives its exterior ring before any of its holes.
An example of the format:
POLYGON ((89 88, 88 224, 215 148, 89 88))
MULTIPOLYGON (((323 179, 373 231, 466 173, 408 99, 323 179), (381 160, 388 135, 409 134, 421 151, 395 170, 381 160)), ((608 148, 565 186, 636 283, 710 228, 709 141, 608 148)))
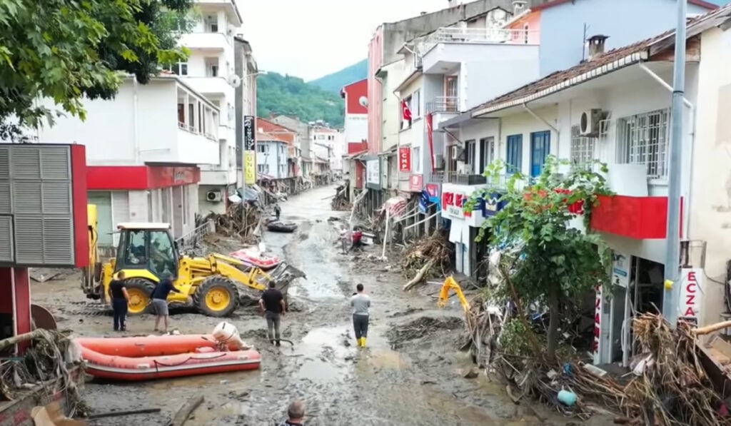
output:
MULTIPOLYGON (((610 191, 600 173, 586 169, 565 175, 558 172, 559 167, 568 165, 567 161, 549 157, 541 175, 530 184, 526 176, 514 173, 503 189, 488 187, 478 191, 467 205, 468 209, 474 208, 477 199, 495 192, 501 194, 501 201, 507 202, 496 216, 485 221, 478 238, 484 237, 489 227, 491 246, 515 248, 518 252, 510 261, 508 288, 502 290, 507 297, 548 306, 549 358, 556 354, 564 302, 582 297, 597 284, 609 284, 607 248, 602 238, 591 232, 588 222, 597 196, 610 191), (577 205, 583 209, 586 232, 569 224, 577 217, 570 211, 577 205)), ((605 165, 601 168, 606 172, 605 165)), ((485 175, 489 181, 499 182, 504 170, 504 162, 497 161, 485 175)))

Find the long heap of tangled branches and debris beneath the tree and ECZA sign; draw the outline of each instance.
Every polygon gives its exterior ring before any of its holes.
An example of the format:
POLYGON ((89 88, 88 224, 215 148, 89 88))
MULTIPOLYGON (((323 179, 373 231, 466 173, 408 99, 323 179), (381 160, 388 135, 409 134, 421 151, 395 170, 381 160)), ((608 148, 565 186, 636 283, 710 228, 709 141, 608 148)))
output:
POLYGON ((479 301, 471 306, 465 318, 466 346, 478 365, 489 365, 507 383, 516 402, 530 395, 582 419, 604 408, 621 413, 615 422, 625 425, 731 425, 727 408, 698 359, 690 324, 681 323, 673 330, 662 316, 638 316, 633 330, 643 354, 635 361, 635 375, 622 383, 579 360, 561 363, 520 356, 533 351, 527 336, 534 331, 504 313, 488 312, 479 301), (577 402, 561 403, 561 389, 577 395, 577 402))

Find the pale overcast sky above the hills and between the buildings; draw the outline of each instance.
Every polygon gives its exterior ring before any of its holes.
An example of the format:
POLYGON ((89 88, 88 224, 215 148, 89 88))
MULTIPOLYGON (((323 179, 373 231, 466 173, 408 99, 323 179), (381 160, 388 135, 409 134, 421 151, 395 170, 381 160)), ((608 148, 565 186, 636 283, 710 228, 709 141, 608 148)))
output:
POLYGON ((447 0, 236 0, 260 69, 305 80, 368 57, 379 24, 447 7, 447 0))

